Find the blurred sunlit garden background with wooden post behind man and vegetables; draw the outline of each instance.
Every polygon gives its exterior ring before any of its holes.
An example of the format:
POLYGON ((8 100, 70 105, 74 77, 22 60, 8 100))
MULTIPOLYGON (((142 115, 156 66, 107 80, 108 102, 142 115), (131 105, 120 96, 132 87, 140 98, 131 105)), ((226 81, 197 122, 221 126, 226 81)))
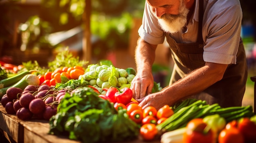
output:
MULTIPOLYGON (((41 66, 69 48, 91 64, 109 59, 118 68, 136 68, 134 50, 145 0, 0 0, 0 62, 41 66)), ((243 105, 252 104, 256 75, 256 1, 240 0, 242 33, 249 69, 243 105)), ((157 48, 155 81, 169 81, 172 60, 167 44, 157 48)))

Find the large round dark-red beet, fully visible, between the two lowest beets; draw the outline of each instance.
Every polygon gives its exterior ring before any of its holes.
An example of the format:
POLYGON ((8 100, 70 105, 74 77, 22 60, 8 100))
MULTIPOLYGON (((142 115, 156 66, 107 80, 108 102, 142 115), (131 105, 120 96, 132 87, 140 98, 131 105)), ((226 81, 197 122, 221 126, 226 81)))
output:
POLYGON ((43 99, 40 99, 40 98, 33 99, 29 103, 29 110, 33 114, 42 114, 43 111, 45 110, 45 102, 43 101, 43 99))

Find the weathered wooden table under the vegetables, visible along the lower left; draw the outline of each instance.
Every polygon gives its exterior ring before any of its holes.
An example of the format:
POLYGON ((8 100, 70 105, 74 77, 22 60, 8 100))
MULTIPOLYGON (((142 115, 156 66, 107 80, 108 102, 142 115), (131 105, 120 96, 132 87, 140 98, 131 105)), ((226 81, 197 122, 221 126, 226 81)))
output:
MULTIPOLYGON (((50 125, 47 121, 22 121, 16 115, 7 114, 0 102, 0 131, 10 143, 81 143, 67 139, 65 136, 48 134, 49 127, 50 125)), ((125 143, 160 143, 160 141, 146 142, 139 138, 125 143)))

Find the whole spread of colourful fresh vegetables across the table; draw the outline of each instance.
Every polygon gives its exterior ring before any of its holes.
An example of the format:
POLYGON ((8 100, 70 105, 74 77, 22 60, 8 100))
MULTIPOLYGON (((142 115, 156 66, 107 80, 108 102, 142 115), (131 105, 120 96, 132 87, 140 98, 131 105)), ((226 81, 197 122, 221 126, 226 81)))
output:
MULTIPOLYGON (((49 121, 49 134, 83 143, 158 140, 161 143, 255 143, 252 106, 222 108, 184 99, 142 109, 132 98, 133 68, 111 61, 80 62, 66 51, 42 68, 37 62, 0 68, 0 99, 18 119, 49 121)), ((7 66, 7 65, 6 65, 7 66)), ((162 88, 154 82, 153 92, 162 88)))

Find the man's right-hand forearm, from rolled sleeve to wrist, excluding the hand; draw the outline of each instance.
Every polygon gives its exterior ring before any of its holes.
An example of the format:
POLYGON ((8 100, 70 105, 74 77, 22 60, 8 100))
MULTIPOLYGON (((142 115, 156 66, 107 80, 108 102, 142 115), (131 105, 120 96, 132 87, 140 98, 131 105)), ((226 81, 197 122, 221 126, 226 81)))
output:
MULTIPOLYGON (((212 84, 222 79, 227 65, 209 64, 194 70, 173 85, 164 88, 164 95, 171 95, 173 101, 202 92, 212 84)), ((171 102, 173 102, 171 101, 171 102)))

